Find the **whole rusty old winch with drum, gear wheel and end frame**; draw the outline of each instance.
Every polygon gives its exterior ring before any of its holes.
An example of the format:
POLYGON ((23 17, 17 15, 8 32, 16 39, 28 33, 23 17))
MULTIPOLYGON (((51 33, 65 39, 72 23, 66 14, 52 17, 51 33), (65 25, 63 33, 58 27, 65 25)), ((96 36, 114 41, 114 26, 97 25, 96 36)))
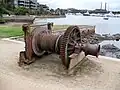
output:
MULTIPOLYGON (((99 45, 82 43, 81 30, 78 26, 70 26, 64 34, 52 33, 52 24, 48 23, 47 28, 36 26, 32 31, 30 25, 24 24, 25 51, 20 52, 19 65, 31 64, 34 57, 41 57, 45 53, 56 53, 60 55, 63 65, 68 69, 70 67, 71 55, 81 52, 87 55, 98 57, 99 45)), ((94 33, 94 31, 82 31, 85 34, 94 33)))

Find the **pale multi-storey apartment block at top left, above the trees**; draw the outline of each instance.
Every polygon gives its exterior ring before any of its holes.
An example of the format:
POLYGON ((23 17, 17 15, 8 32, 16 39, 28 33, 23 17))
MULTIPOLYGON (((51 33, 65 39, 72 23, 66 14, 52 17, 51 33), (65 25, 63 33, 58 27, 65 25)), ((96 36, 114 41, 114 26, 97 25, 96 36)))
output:
POLYGON ((14 6, 37 9, 37 0, 14 0, 14 6))

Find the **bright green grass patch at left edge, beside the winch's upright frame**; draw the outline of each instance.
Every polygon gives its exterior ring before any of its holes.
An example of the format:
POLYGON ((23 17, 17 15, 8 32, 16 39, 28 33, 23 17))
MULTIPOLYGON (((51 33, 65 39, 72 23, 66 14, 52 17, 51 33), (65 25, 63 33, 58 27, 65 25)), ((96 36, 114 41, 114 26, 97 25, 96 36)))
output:
POLYGON ((1 38, 16 37, 22 35, 23 35, 23 31, 21 27, 0 26, 1 38))

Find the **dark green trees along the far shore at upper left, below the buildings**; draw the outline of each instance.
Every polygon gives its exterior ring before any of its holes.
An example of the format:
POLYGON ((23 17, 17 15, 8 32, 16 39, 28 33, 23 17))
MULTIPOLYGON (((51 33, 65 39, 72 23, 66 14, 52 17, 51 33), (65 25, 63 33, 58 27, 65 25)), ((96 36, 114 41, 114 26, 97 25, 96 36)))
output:
MULTIPOLYGON (((47 7, 47 6, 46 6, 47 7)), ((49 8, 49 7, 48 7, 49 8)), ((42 7, 39 7, 37 9, 31 9, 25 8, 25 7, 15 7, 14 6, 14 0, 0 0, 0 16, 2 14, 14 14, 14 15, 59 15, 62 14, 64 15, 64 10, 57 8, 57 9, 50 9, 50 10, 45 10, 42 7)))

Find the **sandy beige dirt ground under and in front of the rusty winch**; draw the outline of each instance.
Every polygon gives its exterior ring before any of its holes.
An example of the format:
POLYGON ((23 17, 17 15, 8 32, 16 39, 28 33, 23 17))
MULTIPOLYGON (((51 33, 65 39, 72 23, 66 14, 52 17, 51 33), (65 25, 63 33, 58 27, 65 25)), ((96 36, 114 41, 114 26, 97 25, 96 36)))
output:
POLYGON ((0 40, 0 90, 120 90, 120 62, 88 56, 67 75, 57 55, 19 67, 24 44, 0 40))

